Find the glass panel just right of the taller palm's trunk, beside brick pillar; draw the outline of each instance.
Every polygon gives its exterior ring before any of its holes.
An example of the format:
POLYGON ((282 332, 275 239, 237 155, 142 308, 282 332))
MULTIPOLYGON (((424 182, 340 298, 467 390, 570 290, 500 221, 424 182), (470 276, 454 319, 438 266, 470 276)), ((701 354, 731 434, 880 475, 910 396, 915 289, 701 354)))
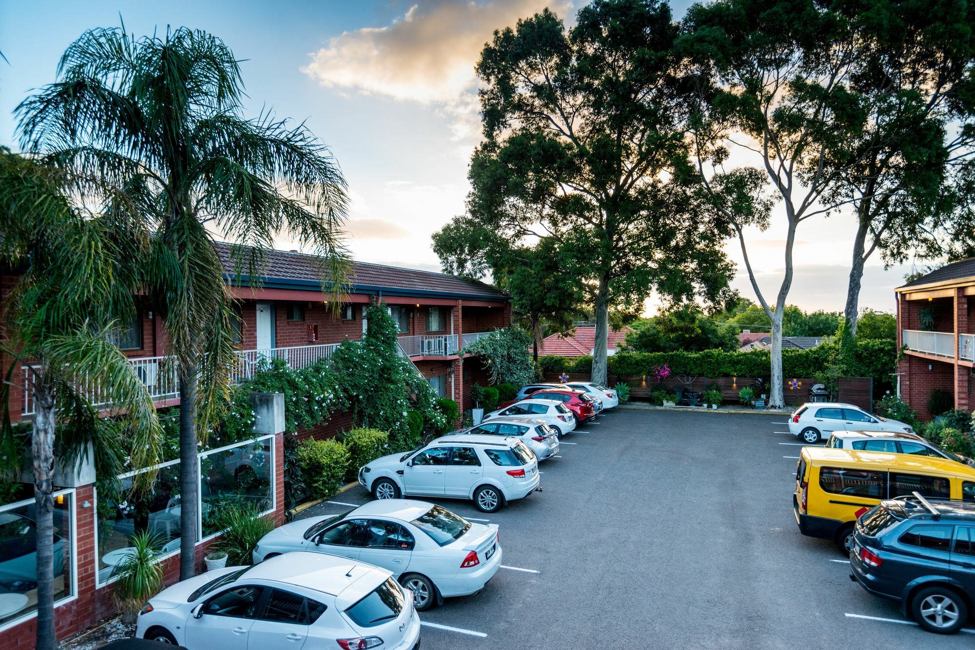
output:
POLYGON ((258 440, 200 459, 203 536, 219 531, 217 516, 239 506, 263 513, 272 508, 272 439, 258 440))

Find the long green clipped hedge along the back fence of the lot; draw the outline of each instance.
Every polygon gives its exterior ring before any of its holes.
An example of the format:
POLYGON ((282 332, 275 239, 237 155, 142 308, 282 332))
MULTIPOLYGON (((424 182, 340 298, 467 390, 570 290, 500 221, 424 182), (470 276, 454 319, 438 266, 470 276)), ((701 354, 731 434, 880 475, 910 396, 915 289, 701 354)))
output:
MULTIPOLYGON (((783 350, 783 377, 812 377, 822 371, 828 363, 835 343, 824 343, 811 350, 783 350)), ((542 371, 559 374, 562 372, 592 372, 592 357, 538 358, 542 371)), ((749 352, 724 352, 705 350, 703 352, 650 352, 620 353, 606 361, 611 376, 639 377, 650 372, 650 368, 668 365, 672 374, 698 375, 703 377, 767 377, 771 359, 767 350, 749 352)), ((873 377, 879 384, 890 382, 890 373, 896 372, 897 344, 888 340, 865 340, 857 343, 855 354, 856 376, 873 377)))

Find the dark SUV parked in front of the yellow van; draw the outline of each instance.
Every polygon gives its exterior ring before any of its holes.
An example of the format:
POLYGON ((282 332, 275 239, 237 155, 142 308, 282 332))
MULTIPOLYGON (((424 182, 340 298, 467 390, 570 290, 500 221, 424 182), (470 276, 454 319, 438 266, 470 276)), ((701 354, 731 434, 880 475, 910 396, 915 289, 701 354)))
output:
POLYGON ((881 502, 857 520, 850 567, 924 630, 961 630, 975 596, 975 503, 917 492, 881 502))

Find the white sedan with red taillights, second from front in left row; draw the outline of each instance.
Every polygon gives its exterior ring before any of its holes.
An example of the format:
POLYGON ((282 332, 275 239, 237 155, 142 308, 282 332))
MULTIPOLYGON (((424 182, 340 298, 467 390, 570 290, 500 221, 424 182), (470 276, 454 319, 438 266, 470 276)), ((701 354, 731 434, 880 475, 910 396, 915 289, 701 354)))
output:
POLYGON ((342 555, 388 569, 412 591, 418 611, 448 596, 480 592, 501 566, 496 523, 471 523, 409 499, 292 521, 260 539, 254 562, 292 551, 342 555))

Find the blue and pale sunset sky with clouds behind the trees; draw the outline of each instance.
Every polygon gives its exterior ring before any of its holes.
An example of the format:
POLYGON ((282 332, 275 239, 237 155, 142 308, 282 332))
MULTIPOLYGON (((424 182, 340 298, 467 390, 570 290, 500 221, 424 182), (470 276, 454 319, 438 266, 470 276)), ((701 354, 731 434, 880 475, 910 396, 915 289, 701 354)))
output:
MULTIPOLYGON (((0 144, 19 149, 13 111, 32 89, 56 81, 58 59, 85 29, 136 35, 167 25, 209 31, 241 62, 245 112, 273 110, 305 121, 331 148, 349 182, 347 245, 356 259, 439 271, 430 235, 464 211, 467 165, 480 139, 473 67, 494 29, 549 7, 571 21, 582 0, 0 0, 0 144)), ((676 17, 690 3, 673 2, 676 17)), ((754 164, 754 163, 753 163, 754 164)), ((784 219, 749 232, 758 282, 774 296, 783 272, 784 219)), ((848 215, 800 225, 788 302, 841 311, 855 227, 848 215)), ((296 249, 281 240, 281 249, 296 249)), ((736 242, 732 286, 755 293, 736 242)), ((860 304, 894 309, 904 266, 868 263, 860 304)), ((647 301, 647 313, 657 301, 647 301)))

